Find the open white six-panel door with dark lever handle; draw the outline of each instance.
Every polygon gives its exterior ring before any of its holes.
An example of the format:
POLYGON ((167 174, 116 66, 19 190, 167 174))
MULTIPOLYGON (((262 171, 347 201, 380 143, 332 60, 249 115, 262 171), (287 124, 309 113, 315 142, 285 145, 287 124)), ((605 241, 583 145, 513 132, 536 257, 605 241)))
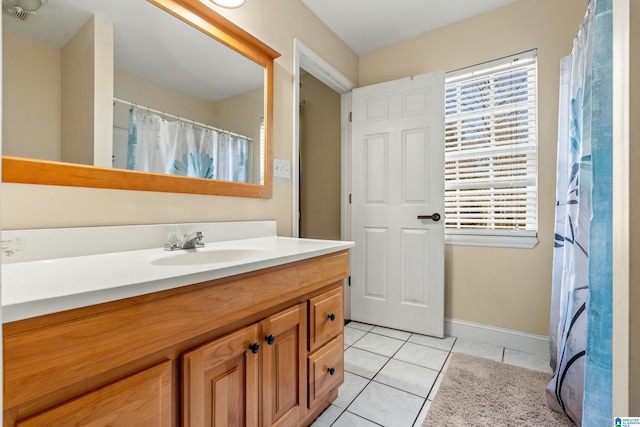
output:
POLYGON ((444 328, 444 72, 353 91, 351 319, 444 328))

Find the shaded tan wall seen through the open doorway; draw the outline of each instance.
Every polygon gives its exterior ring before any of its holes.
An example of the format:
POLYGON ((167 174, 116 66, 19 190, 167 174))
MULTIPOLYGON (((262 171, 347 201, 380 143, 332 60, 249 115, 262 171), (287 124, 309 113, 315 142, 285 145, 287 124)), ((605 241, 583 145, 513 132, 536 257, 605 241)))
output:
POLYGON ((340 94, 300 77, 300 237, 340 239, 340 94))

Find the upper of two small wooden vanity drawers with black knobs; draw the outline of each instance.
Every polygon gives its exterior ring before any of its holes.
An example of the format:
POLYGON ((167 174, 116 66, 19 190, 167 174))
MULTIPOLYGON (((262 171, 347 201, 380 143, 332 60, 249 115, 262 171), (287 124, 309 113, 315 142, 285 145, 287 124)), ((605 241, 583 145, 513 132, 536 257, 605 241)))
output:
POLYGON ((342 286, 309 300, 309 351, 314 351, 344 328, 342 286))

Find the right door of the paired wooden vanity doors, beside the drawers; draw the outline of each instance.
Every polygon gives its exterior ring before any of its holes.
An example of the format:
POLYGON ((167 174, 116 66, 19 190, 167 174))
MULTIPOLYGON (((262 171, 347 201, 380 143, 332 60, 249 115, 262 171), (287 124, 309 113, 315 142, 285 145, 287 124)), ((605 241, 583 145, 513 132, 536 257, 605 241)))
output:
POLYGON ((297 426, 304 415, 306 330, 306 303, 260 322, 263 426, 297 426))

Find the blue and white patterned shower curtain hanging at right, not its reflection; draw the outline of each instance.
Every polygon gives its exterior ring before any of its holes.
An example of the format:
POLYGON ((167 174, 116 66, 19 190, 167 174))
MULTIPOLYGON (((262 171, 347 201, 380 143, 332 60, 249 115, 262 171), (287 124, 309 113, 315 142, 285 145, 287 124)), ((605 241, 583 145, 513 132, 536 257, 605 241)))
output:
POLYGON ((608 328, 602 323, 603 313, 611 314, 611 305, 600 298, 606 295, 607 286, 611 291, 611 282, 607 285, 606 280, 610 279, 606 272, 611 264, 610 238, 602 233, 607 224, 610 230, 611 223, 610 155, 603 155, 603 150, 611 151, 610 67, 607 70, 611 28, 606 21, 610 11, 611 0, 590 1, 572 53, 561 62, 560 74, 549 330, 554 376, 547 386, 547 403, 584 426, 606 425, 602 422, 610 418, 611 410, 610 384, 607 389, 602 383, 585 381, 585 372, 603 365, 606 370, 611 362, 610 323, 608 328), (602 348, 609 352, 608 361, 606 354, 603 357, 596 351, 602 348), (598 407, 593 405, 596 402, 598 407))

